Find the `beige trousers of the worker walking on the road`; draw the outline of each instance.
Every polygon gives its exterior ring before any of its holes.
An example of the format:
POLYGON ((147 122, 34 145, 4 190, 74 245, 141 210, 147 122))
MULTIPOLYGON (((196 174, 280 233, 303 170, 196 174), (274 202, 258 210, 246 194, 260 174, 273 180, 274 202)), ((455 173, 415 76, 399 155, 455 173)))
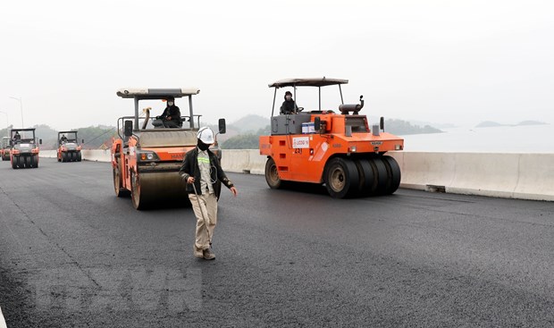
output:
POLYGON ((189 194, 190 203, 192 204, 192 210, 197 216, 197 236, 195 240, 195 250, 202 250, 210 247, 210 239, 214 239, 214 229, 215 224, 217 223, 217 198, 215 194, 203 194, 195 195, 189 194), (200 205, 198 206, 198 200, 200 205), (204 214, 204 217, 202 217, 204 214), (206 225, 204 223, 206 220, 207 230, 210 231, 209 238, 206 231, 206 225))

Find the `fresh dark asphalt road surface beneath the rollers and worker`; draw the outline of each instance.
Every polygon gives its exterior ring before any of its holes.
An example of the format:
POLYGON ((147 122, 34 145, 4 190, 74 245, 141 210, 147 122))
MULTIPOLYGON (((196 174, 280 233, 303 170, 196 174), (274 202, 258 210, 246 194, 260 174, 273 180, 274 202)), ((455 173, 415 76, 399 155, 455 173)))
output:
POLYGON ((8 327, 554 326, 552 203, 228 175, 205 261, 192 210, 136 211, 109 164, 0 163, 8 327))

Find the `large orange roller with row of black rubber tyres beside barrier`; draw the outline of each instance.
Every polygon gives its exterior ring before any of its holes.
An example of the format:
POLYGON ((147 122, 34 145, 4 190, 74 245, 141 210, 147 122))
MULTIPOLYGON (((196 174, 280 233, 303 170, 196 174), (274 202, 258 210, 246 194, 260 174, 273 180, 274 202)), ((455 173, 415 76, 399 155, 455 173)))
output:
MULTIPOLYGON (((272 189, 290 182, 324 184, 333 198, 355 198, 394 193, 400 184, 396 160, 385 155, 404 148, 404 139, 384 131, 384 119, 370 127, 359 104, 344 104, 340 79, 289 79, 269 85, 275 88, 271 135, 259 140, 260 154, 267 156, 265 181, 272 189), (322 107, 322 88, 338 86, 340 97, 334 105, 322 107), (314 87, 318 107, 304 111, 298 107, 298 87, 314 87), (275 115, 275 99, 280 88, 291 88, 275 115), (336 111, 336 112, 335 112, 336 111)), ((307 90, 306 90, 307 91, 307 90)), ((308 92, 303 93, 303 95, 308 92)), ((315 98, 315 97, 314 97, 315 98)), ((299 98, 308 102, 308 97, 299 98)), ((333 104, 331 97, 324 99, 333 104)))

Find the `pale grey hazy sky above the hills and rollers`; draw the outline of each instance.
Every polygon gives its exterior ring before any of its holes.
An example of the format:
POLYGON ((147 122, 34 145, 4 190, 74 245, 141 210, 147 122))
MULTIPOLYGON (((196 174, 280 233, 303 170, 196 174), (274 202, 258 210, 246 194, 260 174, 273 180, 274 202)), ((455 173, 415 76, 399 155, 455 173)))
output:
POLYGON ((204 122, 269 117, 269 83, 319 76, 348 79, 345 102, 372 116, 554 123, 551 0, 3 1, 0 44, 15 127, 10 97, 26 126, 66 130, 114 125, 132 114, 115 91, 142 87, 200 88, 204 122))

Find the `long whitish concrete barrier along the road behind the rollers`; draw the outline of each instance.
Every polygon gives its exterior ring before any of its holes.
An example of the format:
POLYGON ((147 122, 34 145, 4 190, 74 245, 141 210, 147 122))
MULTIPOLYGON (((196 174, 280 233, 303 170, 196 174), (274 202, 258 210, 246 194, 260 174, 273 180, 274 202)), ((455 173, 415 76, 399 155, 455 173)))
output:
MULTIPOLYGON (((83 150, 83 159, 110 162, 110 150, 83 150)), ((390 152, 400 166, 400 187, 428 191, 554 201, 554 154, 390 152)), ((40 152, 55 157, 55 150, 40 152)), ((257 149, 223 149, 226 172, 264 174, 257 149)))

